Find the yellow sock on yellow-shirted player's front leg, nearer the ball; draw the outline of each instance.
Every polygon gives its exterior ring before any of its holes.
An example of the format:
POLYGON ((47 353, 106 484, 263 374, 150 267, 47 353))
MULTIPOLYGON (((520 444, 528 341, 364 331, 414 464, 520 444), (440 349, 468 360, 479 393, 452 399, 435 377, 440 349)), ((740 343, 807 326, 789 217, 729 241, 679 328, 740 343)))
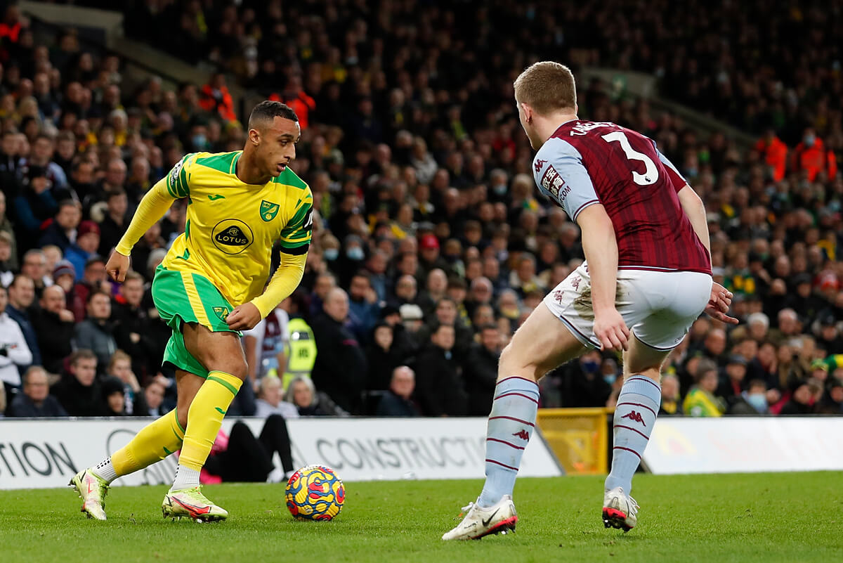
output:
POLYGON ((208 373, 207 380, 202 383, 187 411, 187 432, 181 447, 179 465, 195 471, 202 469, 217 439, 219 427, 223 425, 228 405, 231 405, 241 383, 239 378, 230 373, 208 373))

